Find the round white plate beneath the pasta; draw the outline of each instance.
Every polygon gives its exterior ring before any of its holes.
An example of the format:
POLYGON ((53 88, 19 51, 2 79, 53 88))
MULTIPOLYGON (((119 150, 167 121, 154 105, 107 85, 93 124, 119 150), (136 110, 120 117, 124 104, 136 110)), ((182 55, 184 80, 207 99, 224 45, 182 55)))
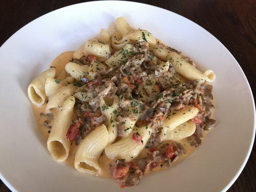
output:
POLYGON ((50 12, 0 48, 0 179, 20 192, 124 191, 112 180, 78 173, 50 157, 34 120, 27 86, 61 52, 74 50, 124 16, 211 69, 218 125, 183 163, 142 178, 125 191, 218 192, 241 173, 255 135, 255 105, 244 72, 214 36, 173 12, 125 1, 95 1, 50 12))

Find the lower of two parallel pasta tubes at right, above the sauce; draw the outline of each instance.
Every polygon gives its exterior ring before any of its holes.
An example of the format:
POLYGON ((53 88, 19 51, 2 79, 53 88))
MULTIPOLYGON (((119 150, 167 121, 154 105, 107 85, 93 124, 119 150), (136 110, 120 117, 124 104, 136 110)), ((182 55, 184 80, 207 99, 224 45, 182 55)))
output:
POLYGON ((193 123, 191 120, 188 120, 181 125, 178 125, 173 130, 171 129, 165 129, 161 132, 160 135, 160 141, 177 141, 181 140, 183 138, 189 137, 190 135, 193 135, 195 132, 195 123, 193 123))

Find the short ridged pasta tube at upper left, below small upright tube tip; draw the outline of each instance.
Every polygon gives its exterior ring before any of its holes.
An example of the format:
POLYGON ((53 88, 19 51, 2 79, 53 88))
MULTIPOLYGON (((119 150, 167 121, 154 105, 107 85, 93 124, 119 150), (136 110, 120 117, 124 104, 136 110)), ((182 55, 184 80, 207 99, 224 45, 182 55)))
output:
POLYGON ((89 55, 94 55, 99 58, 108 59, 110 57, 110 47, 108 44, 100 43, 93 40, 85 42, 84 51, 89 55))

